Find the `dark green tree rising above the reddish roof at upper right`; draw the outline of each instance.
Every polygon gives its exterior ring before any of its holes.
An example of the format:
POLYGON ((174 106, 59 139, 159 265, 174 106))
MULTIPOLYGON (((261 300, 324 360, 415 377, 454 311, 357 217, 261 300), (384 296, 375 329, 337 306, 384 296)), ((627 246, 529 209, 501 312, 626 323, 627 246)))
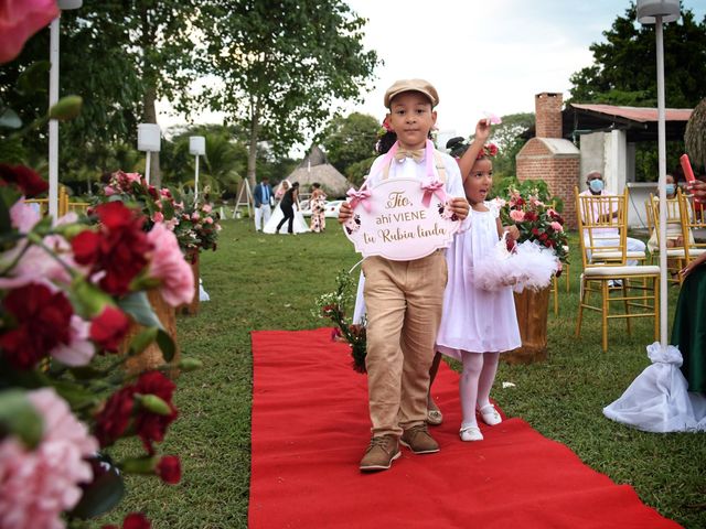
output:
MULTIPOLYGON (((656 106, 654 25, 635 20, 634 3, 593 43, 593 64, 576 72, 567 102, 656 106)), ((691 10, 664 26, 664 71, 667 107, 693 108, 706 96, 706 18, 691 10)))

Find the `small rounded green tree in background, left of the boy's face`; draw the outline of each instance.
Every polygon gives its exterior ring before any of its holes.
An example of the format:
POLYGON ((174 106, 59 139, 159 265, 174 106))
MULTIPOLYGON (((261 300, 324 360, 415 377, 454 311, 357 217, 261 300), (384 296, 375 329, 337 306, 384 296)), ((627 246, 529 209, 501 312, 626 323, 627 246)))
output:
POLYGON ((351 165, 375 155, 378 128, 378 121, 365 114, 335 116, 324 128, 320 140, 329 163, 346 174, 351 165))

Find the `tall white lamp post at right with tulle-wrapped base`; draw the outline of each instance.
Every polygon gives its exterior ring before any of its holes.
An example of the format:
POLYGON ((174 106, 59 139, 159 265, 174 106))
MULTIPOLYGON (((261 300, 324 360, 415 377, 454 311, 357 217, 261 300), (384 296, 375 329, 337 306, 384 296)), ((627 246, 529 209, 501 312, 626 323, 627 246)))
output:
POLYGON ((666 139, 664 126, 663 23, 680 18, 680 0, 638 0, 638 21, 654 24, 657 46, 657 149, 660 156, 660 344, 667 345, 666 294, 666 139))

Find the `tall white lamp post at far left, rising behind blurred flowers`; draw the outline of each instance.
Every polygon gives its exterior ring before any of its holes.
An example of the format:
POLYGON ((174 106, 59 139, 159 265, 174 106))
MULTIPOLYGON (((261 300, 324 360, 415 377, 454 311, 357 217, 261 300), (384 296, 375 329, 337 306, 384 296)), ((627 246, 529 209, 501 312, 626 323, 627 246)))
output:
MULTIPOLYGON (((78 9, 82 0, 58 0, 58 9, 78 9)), ((60 14, 61 17, 61 14, 60 14)), ((58 19, 50 24, 49 60, 49 108, 58 101, 58 19)), ((58 217, 58 121, 49 120, 49 214, 58 217)))

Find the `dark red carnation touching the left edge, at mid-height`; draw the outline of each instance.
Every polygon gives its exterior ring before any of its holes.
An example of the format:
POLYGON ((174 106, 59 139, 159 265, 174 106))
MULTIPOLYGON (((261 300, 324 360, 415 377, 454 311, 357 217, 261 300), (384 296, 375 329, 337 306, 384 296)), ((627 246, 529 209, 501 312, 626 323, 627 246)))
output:
POLYGON ((74 310, 62 292, 30 283, 11 290, 2 305, 14 320, 6 321, 11 328, 0 335, 0 347, 12 366, 31 369, 54 347, 71 343, 74 310))

